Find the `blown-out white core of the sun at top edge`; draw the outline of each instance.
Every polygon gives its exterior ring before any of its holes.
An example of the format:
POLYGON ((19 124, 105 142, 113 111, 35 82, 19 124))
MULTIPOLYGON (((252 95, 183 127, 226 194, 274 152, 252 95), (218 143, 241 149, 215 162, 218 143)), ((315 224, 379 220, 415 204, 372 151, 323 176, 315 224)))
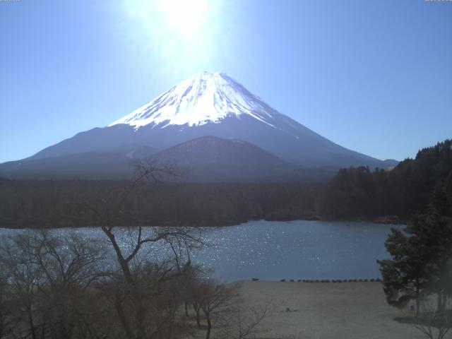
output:
POLYGON ((207 0, 157 0, 156 5, 169 28, 186 37, 198 34, 209 10, 207 0))

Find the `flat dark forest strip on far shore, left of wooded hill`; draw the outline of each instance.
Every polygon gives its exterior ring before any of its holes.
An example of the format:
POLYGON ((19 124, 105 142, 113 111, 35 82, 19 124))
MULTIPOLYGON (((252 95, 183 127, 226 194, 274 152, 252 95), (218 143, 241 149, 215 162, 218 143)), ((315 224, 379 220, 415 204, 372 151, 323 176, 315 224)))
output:
MULTIPOLYGON (((95 206, 115 210, 130 182, 3 180, 0 227, 97 225, 95 206)), ((133 191, 121 225, 215 226, 297 219, 314 211, 318 189, 304 184, 158 184, 133 191)))

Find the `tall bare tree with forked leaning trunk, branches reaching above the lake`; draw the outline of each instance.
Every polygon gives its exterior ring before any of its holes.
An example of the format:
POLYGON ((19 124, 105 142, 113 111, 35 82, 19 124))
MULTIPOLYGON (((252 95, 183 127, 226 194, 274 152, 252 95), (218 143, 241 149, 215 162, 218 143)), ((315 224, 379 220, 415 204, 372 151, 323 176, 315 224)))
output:
POLYGON ((129 339, 158 338, 163 331, 167 338, 172 338, 172 332, 180 328, 175 319, 182 299, 177 299, 167 287, 170 280, 177 280, 190 267, 188 254, 193 247, 202 244, 201 230, 194 227, 127 227, 129 250, 121 247, 116 232, 124 215, 133 218, 130 211, 125 210, 133 191, 175 174, 171 166, 140 161, 136 163, 135 179, 121 194, 113 197, 113 203, 105 200, 104 208, 100 210, 79 202, 97 216, 98 224, 114 250, 119 269, 105 285, 110 288, 102 288, 104 295, 112 300, 124 336, 129 339), (159 245, 166 245, 162 252, 165 248, 170 249, 171 260, 150 261, 150 254, 159 245), (162 298, 165 305, 162 305, 162 298))

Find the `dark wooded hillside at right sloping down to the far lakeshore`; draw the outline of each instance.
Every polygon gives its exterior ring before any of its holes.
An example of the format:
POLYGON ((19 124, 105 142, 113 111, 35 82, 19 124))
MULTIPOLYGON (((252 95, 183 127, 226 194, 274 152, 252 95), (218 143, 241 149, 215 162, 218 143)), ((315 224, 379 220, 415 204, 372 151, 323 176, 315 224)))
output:
POLYGON ((406 219, 427 208, 435 189, 452 201, 452 140, 420 150, 391 171, 341 169, 324 191, 320 212, 333 219, 406 219))

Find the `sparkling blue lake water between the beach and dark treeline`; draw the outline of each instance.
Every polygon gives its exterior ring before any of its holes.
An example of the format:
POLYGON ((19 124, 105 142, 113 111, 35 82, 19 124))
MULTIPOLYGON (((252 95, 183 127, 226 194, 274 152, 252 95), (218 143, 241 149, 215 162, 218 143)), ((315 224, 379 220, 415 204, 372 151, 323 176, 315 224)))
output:
MULTIPOLYGON (((194 251, 192 259, 215 268, 220 280, 378 278, 376 259, 388 258, 384 242, 391 225, 369 222, 256 220, 242 225, 206 228, 214 246, 194 251)), ((1 230, 2 234, 20 232, 1 230)), ((86 241, 105 237, 98 228, 57 229, 86 241)), ((118 232, 126 232, 119 230, 118 232)), ((122 246, 130 246, 124 240, 122 246)))

